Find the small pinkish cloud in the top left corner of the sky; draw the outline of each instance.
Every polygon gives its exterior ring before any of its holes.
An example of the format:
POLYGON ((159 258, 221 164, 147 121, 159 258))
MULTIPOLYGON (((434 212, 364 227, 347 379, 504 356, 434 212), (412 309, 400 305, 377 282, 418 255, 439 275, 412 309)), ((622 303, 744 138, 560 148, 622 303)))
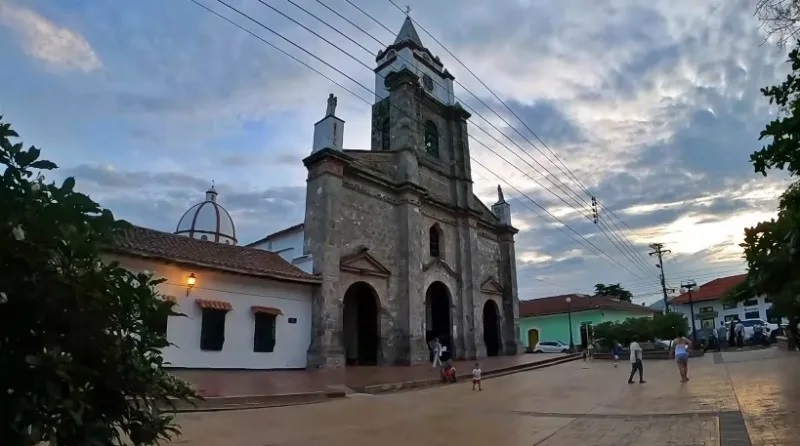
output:
POLYGON ((28 54, 54 68, 88 73, 103 67, 97 53, 80 33, 59 27, 9 0, 0 1, 0 23, 24 37, 28 54))

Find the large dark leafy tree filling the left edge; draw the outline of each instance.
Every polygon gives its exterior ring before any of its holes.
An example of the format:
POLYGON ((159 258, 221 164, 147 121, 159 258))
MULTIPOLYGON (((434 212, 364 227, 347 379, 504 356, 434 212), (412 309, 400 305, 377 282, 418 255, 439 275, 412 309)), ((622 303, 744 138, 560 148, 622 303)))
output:
MULTIPOLYGON (((153 445, 176 434, 172 399, 196 397, 164 369, 155 329, 177 315, 150 274, 101 260, 128 225, 0 118, 0 444, 153 445)), ((173 406, 174 407, 174 406, 173 406)))

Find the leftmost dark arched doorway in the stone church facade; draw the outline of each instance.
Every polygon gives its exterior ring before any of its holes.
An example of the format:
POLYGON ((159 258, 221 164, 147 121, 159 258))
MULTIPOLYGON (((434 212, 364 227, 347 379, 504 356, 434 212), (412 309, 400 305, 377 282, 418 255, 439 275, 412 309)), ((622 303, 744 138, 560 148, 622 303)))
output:
POLYGON ((347 365, 376 365, 380 347, 378 295, 365 282, 356 282, 344 293, 342 325, 347 365))

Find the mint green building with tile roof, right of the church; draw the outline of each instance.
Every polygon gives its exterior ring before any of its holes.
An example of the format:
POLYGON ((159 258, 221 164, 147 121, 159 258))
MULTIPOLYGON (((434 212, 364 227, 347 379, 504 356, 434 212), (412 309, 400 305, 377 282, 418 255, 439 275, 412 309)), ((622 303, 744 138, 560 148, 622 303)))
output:
POLYGON ((519 337, 526 348, 539 341, 561 341, 569 344, 569 315, 572 315, 572 336, 576 346, 586 343, 591 327, 602 322, 621 322, 629 317, 653 317, 652 308, 608 297, 586 294, 565 294, 520 301, 519 337), (583 328, 582 328, 583 327, 583 328))

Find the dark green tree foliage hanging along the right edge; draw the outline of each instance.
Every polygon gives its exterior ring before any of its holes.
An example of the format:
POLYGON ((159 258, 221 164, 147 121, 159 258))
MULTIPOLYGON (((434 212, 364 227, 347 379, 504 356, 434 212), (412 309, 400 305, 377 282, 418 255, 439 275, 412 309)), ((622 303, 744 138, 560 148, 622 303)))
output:
MULTIPOLYGON (((798 42, 800 44, 800 42, 798 42)), ((794 182, 782 194, 778 216, 745 229, 744 258, 748 265, 745 283, 732 290, 727 299, 742 301, 767 294, 781 316, 800 315, 800 53, 789 53, 792 72, 777 86, 762 88, 779 115, 766 125, 760 139, 768 143, 750 156, 756 173, 766 176, 772 169, 784 170, 794 182)))

